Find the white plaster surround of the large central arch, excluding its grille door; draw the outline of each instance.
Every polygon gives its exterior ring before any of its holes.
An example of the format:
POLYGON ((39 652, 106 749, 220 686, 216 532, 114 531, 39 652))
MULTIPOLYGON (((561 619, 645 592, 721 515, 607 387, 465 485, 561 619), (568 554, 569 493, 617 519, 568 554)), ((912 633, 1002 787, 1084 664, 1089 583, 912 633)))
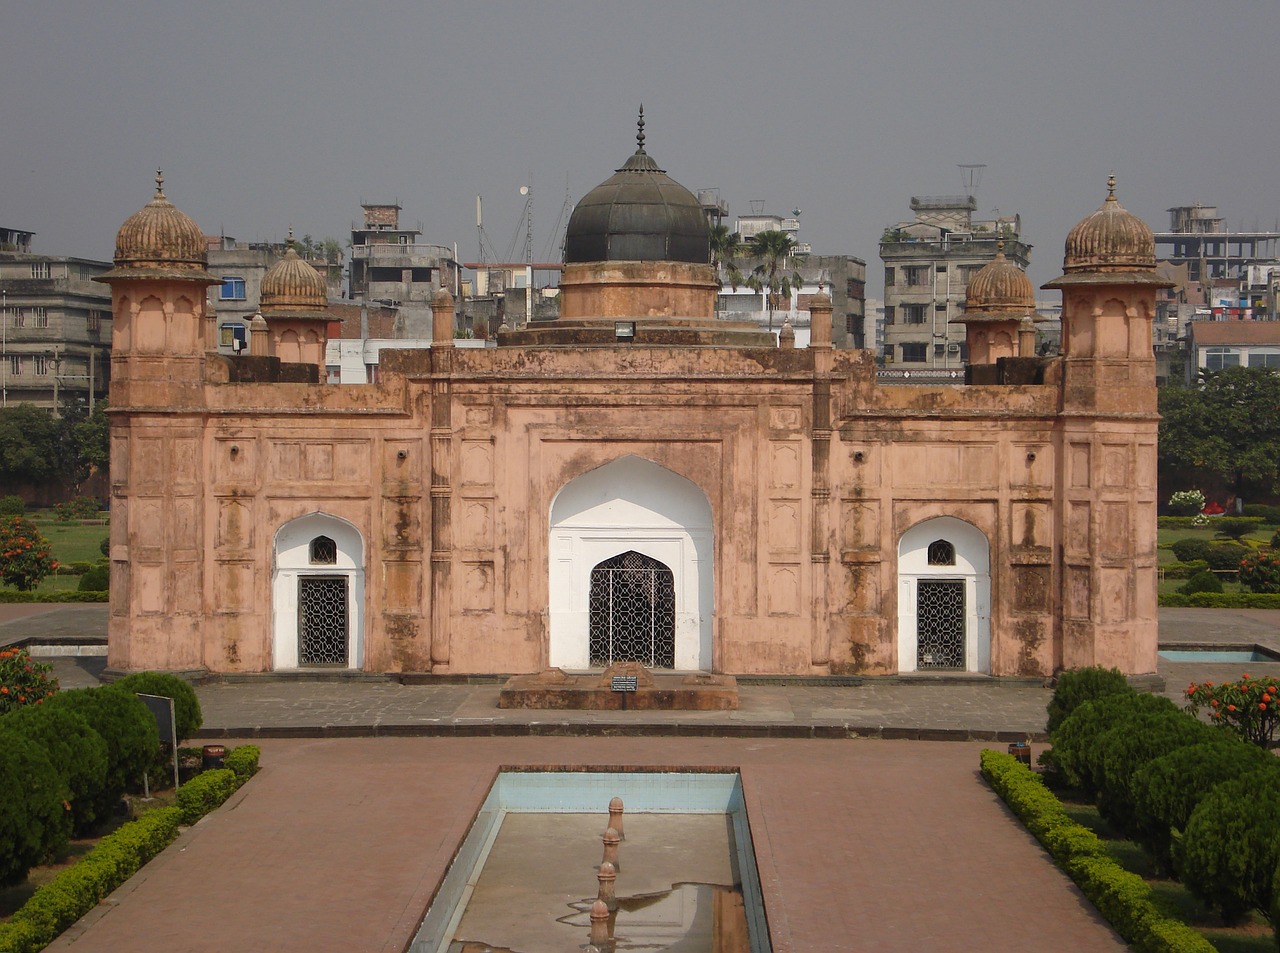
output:
POLYGON ((634 454, 561 487, 550 507, 549 663, 589 665, 591 569, 635 550, 672 571, 676 669, 710 670, 712 508, 698 485, 634 454))

